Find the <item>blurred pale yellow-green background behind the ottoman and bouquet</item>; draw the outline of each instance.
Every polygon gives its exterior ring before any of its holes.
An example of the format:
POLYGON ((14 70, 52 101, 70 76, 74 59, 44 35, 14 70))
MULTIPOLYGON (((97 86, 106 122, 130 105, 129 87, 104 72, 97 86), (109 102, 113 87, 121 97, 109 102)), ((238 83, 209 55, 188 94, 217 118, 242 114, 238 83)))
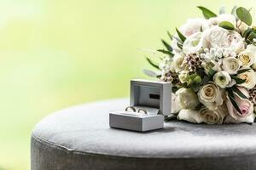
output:
POLYGON ((1 0, 0 169, 30 168, 32 127, 51 112, 128 96, 129 80, 150 67, 139 48, 160 48, 167 30, 201 17, 197 5, 216 13, 256 7, 253 0, 1 0))

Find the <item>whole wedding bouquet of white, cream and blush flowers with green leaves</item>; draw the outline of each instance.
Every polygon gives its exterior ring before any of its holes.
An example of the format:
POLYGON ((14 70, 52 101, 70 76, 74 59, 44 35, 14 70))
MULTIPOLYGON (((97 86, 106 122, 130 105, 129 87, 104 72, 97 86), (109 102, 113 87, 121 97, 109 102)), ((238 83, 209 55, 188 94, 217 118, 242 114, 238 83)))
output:
POLYGON ((168 32, 172 43, 162 40, 160 63, 147 58, 158 71, 144 72, 172 82, 172 114, 178 120, 253 123, 256 27, 250 10, 234 7, 225 14, 221 8, 214 14, 198 8, 204 19, 189 19, 176 34, 168 32))

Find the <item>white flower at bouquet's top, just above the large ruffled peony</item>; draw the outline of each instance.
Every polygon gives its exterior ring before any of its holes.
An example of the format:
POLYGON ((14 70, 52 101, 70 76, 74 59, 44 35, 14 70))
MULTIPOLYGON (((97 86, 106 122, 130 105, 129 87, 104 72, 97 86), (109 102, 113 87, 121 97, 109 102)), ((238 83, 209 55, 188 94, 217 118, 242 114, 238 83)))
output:
POLYGON ((218 26, 223 21, 230 22, 236 27, 236 17, 233 14, 219 14, 217 17, 210 18, 208 21, 209 26, 218 26))

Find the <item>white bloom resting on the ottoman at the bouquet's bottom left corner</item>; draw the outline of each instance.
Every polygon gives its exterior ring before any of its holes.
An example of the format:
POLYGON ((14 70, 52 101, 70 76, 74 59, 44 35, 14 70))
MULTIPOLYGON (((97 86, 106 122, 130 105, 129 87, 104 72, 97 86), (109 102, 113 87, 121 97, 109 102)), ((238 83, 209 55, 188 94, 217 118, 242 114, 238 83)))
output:
POLYGON ((203 121, 199 111, 193 111, 188 109, 182 109, 181 111, 179 111, 177 115, 177 120, 194 123, 201 123, 203 121))

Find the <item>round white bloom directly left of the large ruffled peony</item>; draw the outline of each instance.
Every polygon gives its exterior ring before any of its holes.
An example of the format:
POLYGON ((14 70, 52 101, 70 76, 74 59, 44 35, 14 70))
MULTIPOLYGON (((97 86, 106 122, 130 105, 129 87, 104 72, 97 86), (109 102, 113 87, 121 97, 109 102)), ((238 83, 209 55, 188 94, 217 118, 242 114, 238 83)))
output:
POLYGON ((185 42, 183 42, 183 53, 184 54, 194 54, 201 52, 203 49, 203 34, 202 32, 196 32, 191 36, 187 37, 185 42))

